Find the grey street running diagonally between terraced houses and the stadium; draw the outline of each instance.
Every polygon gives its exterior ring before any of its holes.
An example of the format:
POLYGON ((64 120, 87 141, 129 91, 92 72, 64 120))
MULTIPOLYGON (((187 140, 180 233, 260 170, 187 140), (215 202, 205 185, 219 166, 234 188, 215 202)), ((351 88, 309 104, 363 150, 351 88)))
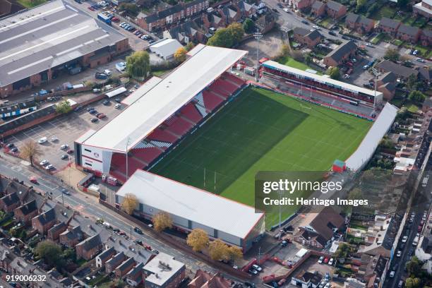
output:
MULTIPOLYGON (((52 197, 58 200, 59 203, 64 200, 65 206, 68 205, 71 208, 78 210, 82 215, 88 216, 90 219, 96 220, 97 217, 101 217, 105 221, 109 222, 112 227, 119 228, 128 235, 132 231, 133 239, 140 239, 141 241, 152 246, 152 248, 174 256, 176 260, 185 263, 186 268, 192 270, 193 272, 196 272, 198 269, 217 272, 217 270, 210 267, 209 265, 202 263, 199 260, 192 258, 183 252, 172 248, 171 246, 168 246, 167 244, 162 243, 158 239, 155 239, 152 235, 148 234, 148 232, 143 231, 143 235, 136 234, 133 232, 133 227, 135 227, 133 222, 126 220, 120 215, 117 215, 112 210, 104 208, 104 206, 97 203, 97 200, 94 197, 87 196, 84 193, 77 191, 72 191, 71 189, 68 189, 68 191, 71 193, 71 196, 64 195, 61 193, 61 189, 66 187, 61 186, 61 182, 56 179, 55 176, 42 174, 41 172, 38 172, 37 169, 25 166, 23 163, 20 163, 20 160, 17 160, 9 155, 4 155, 3 153, 1 153, 0 157, 0 174, 8 176, 9 178, 17 178, 20 181, 22 180, 29 186, 35 186, 35 190, 37 191, 47 191, 50 194, 52 193, 52 197), (29 176, 37 176, 39 184, 31 184, 30 181, 28 181, 29 176)), ((227 277, 227 275, 224 276, 227 277)), ((228 278, 232 279, 232 277, 228 278)))

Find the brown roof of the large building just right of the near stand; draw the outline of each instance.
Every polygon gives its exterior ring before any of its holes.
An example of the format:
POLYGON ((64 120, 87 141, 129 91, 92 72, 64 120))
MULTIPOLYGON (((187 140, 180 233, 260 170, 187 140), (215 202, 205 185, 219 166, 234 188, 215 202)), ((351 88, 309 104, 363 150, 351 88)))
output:
POLYGON ((328 241, 334 234, 332 229, 340 229, 344 222, 344 218, 334 209, 325 207, 316 214, 313 220, 309 223, 309 226, 315 229, 315 231, 320 234, 320 236, 323 236, 325 241, 328 241))

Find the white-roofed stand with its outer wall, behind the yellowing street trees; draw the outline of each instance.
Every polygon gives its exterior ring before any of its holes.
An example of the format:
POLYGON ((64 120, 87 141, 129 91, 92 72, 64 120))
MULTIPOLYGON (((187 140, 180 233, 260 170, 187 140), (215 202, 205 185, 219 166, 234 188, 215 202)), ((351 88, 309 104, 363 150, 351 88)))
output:
POLYGON ((138 199, 141 217, 167 212, 178 229, 204 229, 210 238, 245 250, 265 231, 265 215, 255 208, 143 170, 136 170, 119 189, 116 205, 127 193, 138 199))

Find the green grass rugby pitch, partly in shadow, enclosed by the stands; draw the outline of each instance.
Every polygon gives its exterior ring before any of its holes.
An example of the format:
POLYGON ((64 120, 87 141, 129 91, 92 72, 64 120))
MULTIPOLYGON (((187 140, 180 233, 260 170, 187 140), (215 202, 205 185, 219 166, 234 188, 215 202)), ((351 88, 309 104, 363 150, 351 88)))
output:
MULTIPOLYGON (((334 160, 352 155, 371 125, 276 92, 247 88, 151 172, 254 205, 256 172, 327 171, 334 160)), ((296 209, 287 208, 283 216, 296 209)), ((266 216, 268 227, 278 220, 278 213, 266 216)))

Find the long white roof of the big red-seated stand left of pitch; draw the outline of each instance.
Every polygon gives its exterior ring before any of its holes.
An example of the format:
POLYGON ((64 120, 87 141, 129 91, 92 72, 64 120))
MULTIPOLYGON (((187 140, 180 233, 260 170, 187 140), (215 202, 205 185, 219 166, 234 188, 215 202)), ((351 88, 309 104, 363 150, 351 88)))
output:
POLYGON ((247 52, 199 45, 196 54, 145 92, 119 116, 84 141, 109 150, 126 151, 187 104, 247 52))

